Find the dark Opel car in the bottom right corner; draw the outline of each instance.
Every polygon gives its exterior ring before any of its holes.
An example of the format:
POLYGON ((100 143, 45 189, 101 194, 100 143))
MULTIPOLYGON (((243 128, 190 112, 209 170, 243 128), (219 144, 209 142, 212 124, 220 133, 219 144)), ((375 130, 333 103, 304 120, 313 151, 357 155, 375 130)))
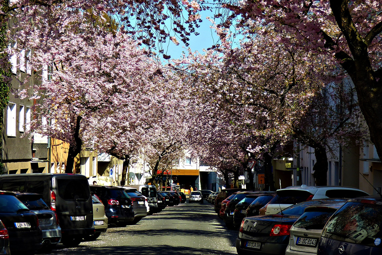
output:
POLYGON ((326 223, 317 255, 382 254, 382 198, 349 199, 326 223))

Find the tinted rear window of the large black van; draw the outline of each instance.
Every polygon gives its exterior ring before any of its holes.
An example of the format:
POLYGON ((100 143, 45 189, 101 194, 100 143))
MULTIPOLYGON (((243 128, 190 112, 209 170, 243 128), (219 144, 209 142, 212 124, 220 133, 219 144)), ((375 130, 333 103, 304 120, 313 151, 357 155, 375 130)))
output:
POLYGON ((57 179, 58 196, 65 201, 89 200, 89 184, 85 180, 57 179))

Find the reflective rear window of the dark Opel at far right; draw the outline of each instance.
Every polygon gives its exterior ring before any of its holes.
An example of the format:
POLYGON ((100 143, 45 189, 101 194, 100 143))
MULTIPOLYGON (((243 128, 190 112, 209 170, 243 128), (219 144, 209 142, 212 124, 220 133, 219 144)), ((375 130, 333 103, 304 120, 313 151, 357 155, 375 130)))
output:
POLYGON ((348 202, 333 214, 322 236, 376 247, 382 239, 380 226, 382 226, 382 206, 348 202))

